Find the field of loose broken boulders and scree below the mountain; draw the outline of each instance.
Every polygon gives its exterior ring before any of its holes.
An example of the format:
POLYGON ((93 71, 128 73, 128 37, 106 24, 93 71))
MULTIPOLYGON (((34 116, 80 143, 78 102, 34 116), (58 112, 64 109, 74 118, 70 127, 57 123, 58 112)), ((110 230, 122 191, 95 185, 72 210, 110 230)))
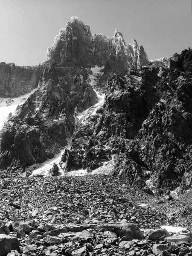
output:
POLYGON ((191 255, 189 192, 157 197, 106 175, 9 175, 1 173, 0 256, 191 255), (171 225, 186 229, 161 229, 171 225))

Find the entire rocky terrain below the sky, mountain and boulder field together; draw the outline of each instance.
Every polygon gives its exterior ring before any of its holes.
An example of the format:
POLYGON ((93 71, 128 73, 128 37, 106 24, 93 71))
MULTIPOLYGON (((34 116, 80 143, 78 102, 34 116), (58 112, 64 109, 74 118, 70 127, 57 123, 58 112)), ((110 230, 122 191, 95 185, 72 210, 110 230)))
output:
POLYGON ((0 63, 0 110, 0 256, 192 255, 192 49, 72 17, 44 63, 0 63))

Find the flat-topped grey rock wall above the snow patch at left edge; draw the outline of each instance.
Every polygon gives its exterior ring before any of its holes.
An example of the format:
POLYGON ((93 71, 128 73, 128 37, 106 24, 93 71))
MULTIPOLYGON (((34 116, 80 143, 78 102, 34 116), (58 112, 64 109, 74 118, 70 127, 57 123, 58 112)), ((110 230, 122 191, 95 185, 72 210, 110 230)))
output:
POLYGON ((19 67, 14 63, 0 63, 0 97, 19 97, 38 86, 43 65, 19 67))

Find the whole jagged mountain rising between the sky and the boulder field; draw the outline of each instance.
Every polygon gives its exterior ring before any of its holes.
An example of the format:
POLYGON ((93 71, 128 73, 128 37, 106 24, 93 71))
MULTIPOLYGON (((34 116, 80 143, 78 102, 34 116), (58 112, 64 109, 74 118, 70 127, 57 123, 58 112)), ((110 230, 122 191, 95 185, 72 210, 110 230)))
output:
POLYGON ((92 172, 112 161, 113 175, 148 193, 191 188, 191 49, 150 62, 136 40, 126 44, 117 30, 111 38, 92 35, 72 17, 44 63, 0 64, 1 97, 34 88, 0 132, 1 169, 23 172, 72 138, 60 161, 66 172, 92 172), (103 104, 81 122, 77 115, 97 104, 98 93, 103 104))

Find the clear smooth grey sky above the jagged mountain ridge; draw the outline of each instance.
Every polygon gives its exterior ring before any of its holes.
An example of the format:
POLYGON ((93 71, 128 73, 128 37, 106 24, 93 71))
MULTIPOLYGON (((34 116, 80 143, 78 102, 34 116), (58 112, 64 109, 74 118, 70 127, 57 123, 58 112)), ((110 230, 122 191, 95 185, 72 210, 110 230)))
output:
POLYGON ((46 59, 59 29, 71 16, 92 34, 122 32, 148 58, 171 57, 192 47, 191 0, 0 0, 0 62, 36 65, 46 59))

